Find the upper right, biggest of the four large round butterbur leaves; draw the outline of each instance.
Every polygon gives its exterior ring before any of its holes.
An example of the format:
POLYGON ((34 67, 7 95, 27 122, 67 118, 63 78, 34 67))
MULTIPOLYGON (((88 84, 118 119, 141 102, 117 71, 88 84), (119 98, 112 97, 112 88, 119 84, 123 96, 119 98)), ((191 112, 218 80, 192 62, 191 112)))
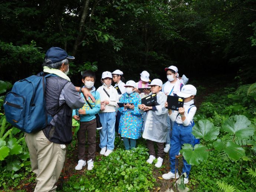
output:
POLYGON ((254 128, 250 127, 251 122, 244 115, 229 117, 222 128, 224 131, 233 133, 238 138, 249 138, 254 134, 254 128))

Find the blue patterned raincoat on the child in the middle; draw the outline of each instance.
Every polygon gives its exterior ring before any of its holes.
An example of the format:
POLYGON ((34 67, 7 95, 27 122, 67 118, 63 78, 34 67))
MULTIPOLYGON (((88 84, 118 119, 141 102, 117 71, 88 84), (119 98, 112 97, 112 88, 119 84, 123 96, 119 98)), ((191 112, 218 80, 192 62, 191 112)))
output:
POLYGON ((142 129, 142 110, 138 108, 141 104, 141 98, 138 93, 130 95, 124 93, 119 99, 120 103, 133 103, 134 110, 124 107, 119 107, 118 110, 122 113, 119 122, 119 134, 124 138, 138 139, 141 137, 142 129))

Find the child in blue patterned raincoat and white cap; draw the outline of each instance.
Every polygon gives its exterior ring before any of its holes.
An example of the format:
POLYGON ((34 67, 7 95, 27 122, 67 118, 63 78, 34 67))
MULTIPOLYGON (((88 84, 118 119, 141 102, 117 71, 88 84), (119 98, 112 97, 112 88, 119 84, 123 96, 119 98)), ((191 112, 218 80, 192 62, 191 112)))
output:
POLYGON ((119 134, 123 137, 126 150, 135 148, 136 139, 141 137, 142 111, 138 108, 138 105, 141 104, 141 98, 138 93, 134 92, 135 87, 136 83, 134 81, 126 82, 126 93, 119 100, 120 103, 127 103, 124 104, 124 107, 118 108, 122 113, 119 122, 119 134))

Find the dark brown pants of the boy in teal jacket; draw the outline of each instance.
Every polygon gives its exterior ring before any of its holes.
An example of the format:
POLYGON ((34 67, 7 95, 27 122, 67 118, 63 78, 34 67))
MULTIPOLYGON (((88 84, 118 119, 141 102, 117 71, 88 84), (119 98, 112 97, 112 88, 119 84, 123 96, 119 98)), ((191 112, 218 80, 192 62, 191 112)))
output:
POLYGON ((80 122, 80 128, 77 132, 79 160, 85 160, 86 132, 88 140, 87 160, 94 160, 96 150, 96 119, 88 122, 80 122))

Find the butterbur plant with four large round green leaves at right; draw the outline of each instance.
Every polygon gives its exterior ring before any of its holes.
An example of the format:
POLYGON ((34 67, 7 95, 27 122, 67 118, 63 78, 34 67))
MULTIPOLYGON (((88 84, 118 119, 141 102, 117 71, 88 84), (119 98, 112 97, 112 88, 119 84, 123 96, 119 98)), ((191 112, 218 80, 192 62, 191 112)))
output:
POLYGON ((180 151, 184 159, 191 165, 199 165, 201 161, 208 158, 208 151, 215 149, 220 154, 224 154, 223 157, 227 156, 230 160, 236 161, 246 156, 244 147, 256 148, 255 128, 246 116, 234 115, 227 118, 221 125, 221 129, 229 136, 225 137, 224 135, 217 139, 219 127, 214 126, 209 120, 199 120, 197 125, 193 127, 192 133, 197 139, 200 139, 202 144, 196 144, 194 147, 190 144, 184 144, 180 151), (216 140, 212 143, 214 148, 207 149, 204 142, 212 140, 216 140), (251 145, 240 145, 243 143, 241 141, 251 145))

